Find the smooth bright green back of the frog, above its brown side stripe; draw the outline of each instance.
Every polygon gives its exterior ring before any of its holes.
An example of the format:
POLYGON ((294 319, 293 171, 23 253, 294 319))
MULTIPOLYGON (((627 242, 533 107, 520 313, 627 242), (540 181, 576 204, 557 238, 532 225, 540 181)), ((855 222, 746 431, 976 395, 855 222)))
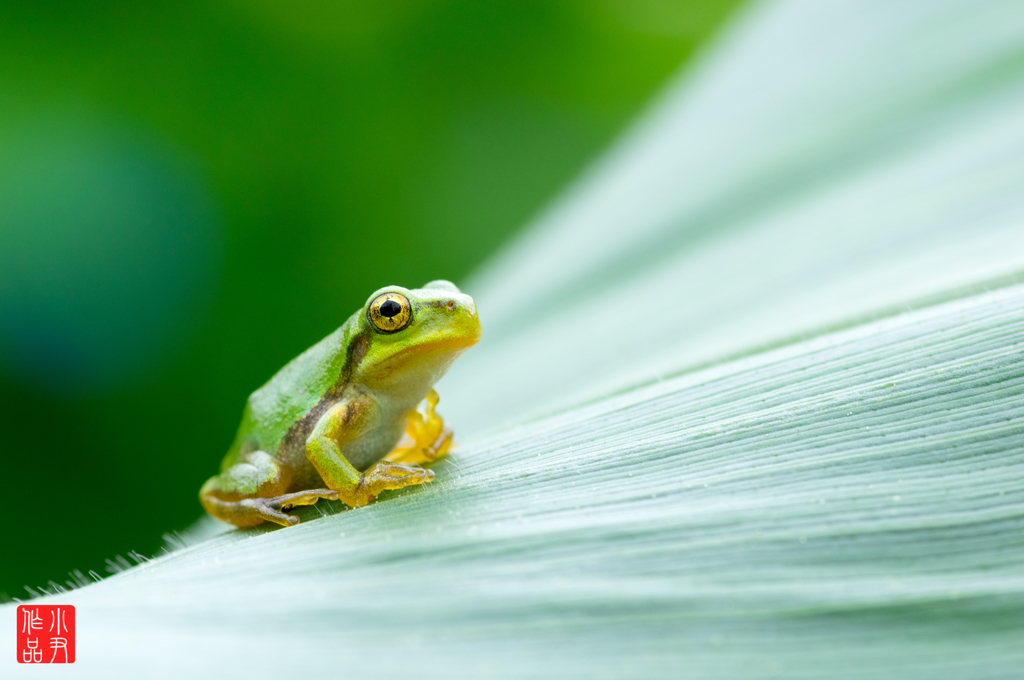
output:
POLYGON ((222 470, 233 465, 240 453, 265 451, 272 455, 292 425, 336 388, 354 326, 349 318, 249 395, 234 442, 221 464, 222 470))

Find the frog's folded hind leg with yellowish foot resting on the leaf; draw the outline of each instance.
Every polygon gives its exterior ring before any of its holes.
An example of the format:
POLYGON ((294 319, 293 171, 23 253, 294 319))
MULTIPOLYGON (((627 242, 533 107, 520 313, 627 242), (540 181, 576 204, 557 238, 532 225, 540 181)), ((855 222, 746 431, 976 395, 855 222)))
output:
POLYGON ((285 513, 293 507, 312 505, 322 498, 338 498, 338 492, 330 488, 283 494, 288 482, 278 461, 257 451, 210 477, 200 490, 199 499, 207 512, 236 526, 255 526, 263 521, 292 526, 299 523, 299 518, 285 513))

